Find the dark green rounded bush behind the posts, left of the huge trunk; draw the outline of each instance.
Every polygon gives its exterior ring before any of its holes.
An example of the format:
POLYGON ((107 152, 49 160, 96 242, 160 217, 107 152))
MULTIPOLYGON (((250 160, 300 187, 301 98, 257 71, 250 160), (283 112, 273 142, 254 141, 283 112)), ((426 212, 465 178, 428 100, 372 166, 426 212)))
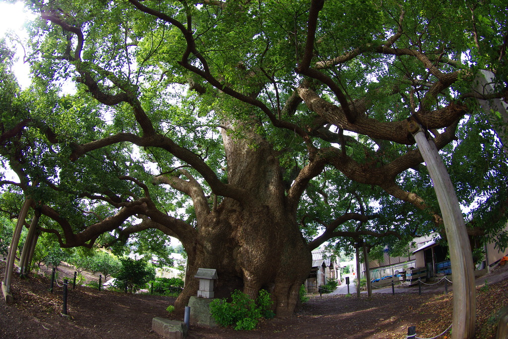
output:
POLYGON ((127 283, 127 289, 135 292, 155 278, 155 268, 145 261, 121 258, 120 262, 121 267, 114 282, 118 288, 124 287, 127 283))

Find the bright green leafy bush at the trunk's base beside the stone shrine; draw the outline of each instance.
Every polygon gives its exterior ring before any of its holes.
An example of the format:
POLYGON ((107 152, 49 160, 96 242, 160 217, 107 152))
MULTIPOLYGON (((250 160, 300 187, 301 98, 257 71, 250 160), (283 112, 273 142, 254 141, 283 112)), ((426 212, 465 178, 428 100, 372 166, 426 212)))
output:
POLYGON ((235 330, 251 330, 256 328, 260 318, 271 319, 275 314, 271 311, 273 304, 270 294, 261 290, 257 303, 239 290, 231 294, 231 303, 226 299, 215 299, 210 303, 210 312, 220 326, 234 326, 235 330))

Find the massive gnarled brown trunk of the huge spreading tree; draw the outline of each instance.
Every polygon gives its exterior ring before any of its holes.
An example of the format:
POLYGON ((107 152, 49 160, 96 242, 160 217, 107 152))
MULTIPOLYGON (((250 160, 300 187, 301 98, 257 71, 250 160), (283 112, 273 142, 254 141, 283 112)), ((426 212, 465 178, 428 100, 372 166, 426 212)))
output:
POLYGON ((225 198, 198 224, 197 244, 188 251, 185 288, 175 306, 183 308, 196 295, 199 282, 194 276, 198 268, 207 268, 217 270, 215 297, 229 297, 239 289, 256 298, 260 289, 266 289, 276 315, 288 317, 310 272, 311 254, 296 214, 287 210, 273 150, 258 135, 245 135, 233 140, 224 132, 223 140, 228 181, 248 192, 248 203, 225 198))

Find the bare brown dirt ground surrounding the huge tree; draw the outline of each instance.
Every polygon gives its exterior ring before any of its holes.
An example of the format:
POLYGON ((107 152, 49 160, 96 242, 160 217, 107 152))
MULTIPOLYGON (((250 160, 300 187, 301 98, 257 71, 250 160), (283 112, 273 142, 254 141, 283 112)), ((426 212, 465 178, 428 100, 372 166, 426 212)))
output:
MULTIPOLYGON (((5 262, 0 262, 3 280, 5 262)), ((59 268, 59 281, 71 278, 74 270, 59 268)), ((508 265, 498 267, 477 287, 477 338, 494 338, 497 312, 508 305, 508 265), (498 281, 498 282, 495 282, 498 281)), ((97 279, 98 276, 88 276, 97 279)), ((481 279, 484 279, 483 277, 481 279)), ((483 280, 482 280, 483 281, 483 280)), ((15 303, 0 300, 0 338, 160 338, 151 331, 153 317, 182 320, 166 308, 175 298, 150 294, 123 294, 98 291, 84 286, 69 288, 68 312, 61 316, 62 288, 39 275, 29 279, 15 276, 12 291, 15 303)), ((407 292, 312 296, 302 309, 288 319, 263 320, 252 331, 232 328, 191 327, 188 338, 405 338, 407 327, 417 326, 417 335, 432 337, 452 322, 453 293, 444 294, 433 286, 418 294, 407 292)), ((444 335, 441 338, 446 338, 444 335)))

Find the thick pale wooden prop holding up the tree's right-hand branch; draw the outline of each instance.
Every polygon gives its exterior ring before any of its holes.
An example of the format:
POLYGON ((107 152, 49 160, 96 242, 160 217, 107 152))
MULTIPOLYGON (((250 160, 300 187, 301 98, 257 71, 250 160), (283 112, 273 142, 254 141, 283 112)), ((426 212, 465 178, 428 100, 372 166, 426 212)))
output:
POLYGON ((474 266, 459 201, 434 142, 427 140, 414 119, 409 121, 408 130, 415 137, 427 165, 446 230, 454 277, 452 339, 472 339, 476 321, 474 266))

